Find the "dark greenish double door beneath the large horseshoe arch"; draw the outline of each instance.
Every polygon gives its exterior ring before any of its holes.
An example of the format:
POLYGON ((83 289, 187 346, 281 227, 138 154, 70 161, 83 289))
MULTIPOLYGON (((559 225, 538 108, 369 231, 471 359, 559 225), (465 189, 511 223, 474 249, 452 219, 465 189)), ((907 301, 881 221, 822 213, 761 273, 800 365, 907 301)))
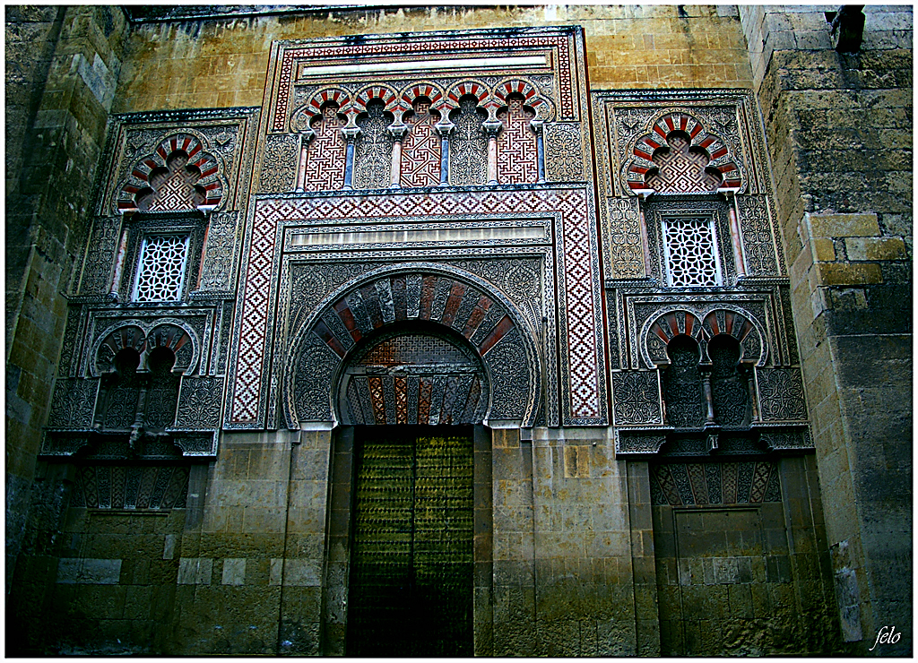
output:
POLYGON ((357 431, 347 655, 472 656, 472 427, 357 431))

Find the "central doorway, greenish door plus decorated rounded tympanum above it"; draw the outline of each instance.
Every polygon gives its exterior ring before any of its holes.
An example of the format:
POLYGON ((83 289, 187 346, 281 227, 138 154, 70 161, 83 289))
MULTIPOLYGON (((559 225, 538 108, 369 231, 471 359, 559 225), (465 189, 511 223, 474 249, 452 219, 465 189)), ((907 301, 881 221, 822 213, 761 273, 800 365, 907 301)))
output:
POLYGON ((487 373, 465 337, 424 322, 364 337, 345 358, 353 425, 345 654, 474 654, 474 428, 487 373))

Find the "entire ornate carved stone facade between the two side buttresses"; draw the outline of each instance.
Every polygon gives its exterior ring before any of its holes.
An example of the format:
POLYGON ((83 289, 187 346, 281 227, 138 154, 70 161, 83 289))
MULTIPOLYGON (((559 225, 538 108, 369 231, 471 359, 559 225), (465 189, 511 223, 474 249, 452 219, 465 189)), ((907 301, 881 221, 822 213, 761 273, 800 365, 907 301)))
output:
POLYGON ((50 625, 17 652, 847 651, 748 83, 615 83, 654 36, 541 27, 557 7, 287 25, 312 11, 126 33, 122 90, 162 30, 257 95, 106 110, 10 600, 50 625), (263 49, 215 56, 236 29, 263 49))

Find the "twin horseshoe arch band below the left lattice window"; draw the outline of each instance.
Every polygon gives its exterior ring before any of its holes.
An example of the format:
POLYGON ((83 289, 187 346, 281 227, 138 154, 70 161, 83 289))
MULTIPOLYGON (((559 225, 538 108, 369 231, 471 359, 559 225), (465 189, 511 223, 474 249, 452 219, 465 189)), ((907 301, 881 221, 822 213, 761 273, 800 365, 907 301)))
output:
POLYGON ((115 357, 124 348, 132 348, 140 355, 138 370, 148 370, 148 359, 157 348, 167 348, 174 353, 174 372, 190 374, 195 370, 200 356, 200 342, 195 331, 181 320, 160 319, 150 324, 146 321, 122 321, 108 327, 93 344, 89 366, 92 377, 100 377, 115 370, 115 357))

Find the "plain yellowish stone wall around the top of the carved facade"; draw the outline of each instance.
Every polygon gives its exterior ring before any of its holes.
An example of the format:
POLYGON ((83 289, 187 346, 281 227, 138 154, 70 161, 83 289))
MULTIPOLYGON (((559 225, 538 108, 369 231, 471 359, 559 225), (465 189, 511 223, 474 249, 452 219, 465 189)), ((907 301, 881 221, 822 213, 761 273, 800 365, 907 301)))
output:
POLYGON ((596 88, 747 87, 752 80, 735 9, 726 6, 311 10, 134 28, 113 110, 261 105, 275 39, 544 25, 584 27, 596 88))

